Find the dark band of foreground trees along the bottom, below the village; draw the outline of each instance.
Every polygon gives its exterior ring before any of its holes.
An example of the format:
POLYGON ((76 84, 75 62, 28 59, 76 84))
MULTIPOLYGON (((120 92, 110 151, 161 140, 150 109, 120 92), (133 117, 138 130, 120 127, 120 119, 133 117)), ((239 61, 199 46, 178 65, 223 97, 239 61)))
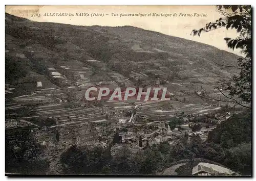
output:
MULTIPOLYGON (((32 133, 20 131, 11 140, 10 135, 13 134, 8 133, 6 137, 6 172, 47 173, 49 162, 39 157, 43 148, 36 143, 32 133)), ((89 149, 73 145, 61 154, 58 171, 63 174, 151 175, 177 161, 198 158, 251 175, 251 113, 231 116, 209 134, 206 142, 199 136, 189 138, 185 134, 176 144, 147 144, 137 153, 123 144, 114 155, 112 146, 89 149)), ((192 167, 189 169, 191 171, 192 167)))

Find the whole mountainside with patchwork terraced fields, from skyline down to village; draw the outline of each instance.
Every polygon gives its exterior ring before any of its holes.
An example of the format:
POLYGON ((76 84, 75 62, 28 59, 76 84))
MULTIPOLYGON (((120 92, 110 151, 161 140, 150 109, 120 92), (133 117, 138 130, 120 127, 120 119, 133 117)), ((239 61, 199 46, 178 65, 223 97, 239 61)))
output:
POLYGON ((214 100, 205 105, 206 100, 195 93, 204 89, 223 98, 215 91, 215 78, 236 71, 220 70, 213 63, 225 59, 232 64, 236 55, 157 32, 6 17, 6 112, 10 118, 54 118, 60 126, 105 121, 108 111, 136 110, 136 116, 150 120, 168 120, 181 112, 208 114, 220 110, 221 105, 214 100), (18 76, 9 69, 13 66, 18 76), (92 86, 111 90, 166 87, 172 99, 102 100, 94 104, 84 100, 84 93, 92 86))

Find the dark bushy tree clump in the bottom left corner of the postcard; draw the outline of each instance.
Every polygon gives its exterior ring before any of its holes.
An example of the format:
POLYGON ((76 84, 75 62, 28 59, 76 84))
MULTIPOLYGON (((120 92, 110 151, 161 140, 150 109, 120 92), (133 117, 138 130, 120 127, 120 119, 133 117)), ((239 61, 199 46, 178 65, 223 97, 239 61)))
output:
POLYGON ((42 159, 44 150, 30 130, 20 129, 6 132, 6 173, 45 174, 49 162, 42 159))

